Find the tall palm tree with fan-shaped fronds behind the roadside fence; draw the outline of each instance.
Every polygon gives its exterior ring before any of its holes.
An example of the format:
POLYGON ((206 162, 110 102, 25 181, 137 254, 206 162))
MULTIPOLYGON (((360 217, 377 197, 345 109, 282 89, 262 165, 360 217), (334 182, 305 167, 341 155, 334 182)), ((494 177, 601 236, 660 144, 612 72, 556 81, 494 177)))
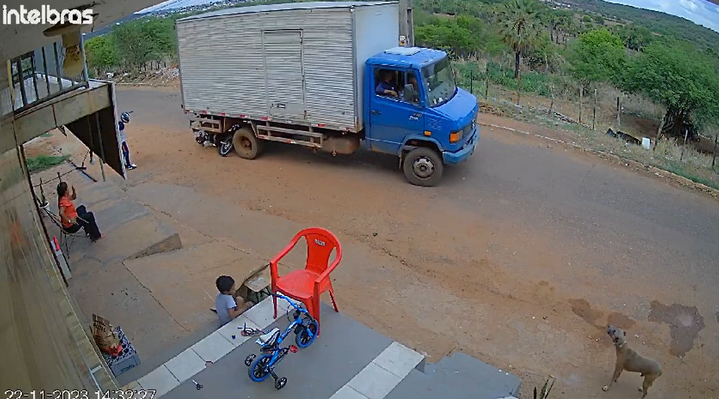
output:
POLYGON ((536 44, 541 32, 539 7, 533 0, 511 0, 498 17, 503 41, 514 52, 514 78, 518 78, 521 57, 536 44))

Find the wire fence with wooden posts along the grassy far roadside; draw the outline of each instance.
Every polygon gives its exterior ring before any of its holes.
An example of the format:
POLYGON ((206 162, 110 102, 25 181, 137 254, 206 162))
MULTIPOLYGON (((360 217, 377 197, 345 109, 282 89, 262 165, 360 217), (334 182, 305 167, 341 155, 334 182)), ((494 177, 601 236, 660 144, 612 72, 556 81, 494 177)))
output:
POLYGON ((664 108, 639 95, 624 95, 610 85, 586 90, 561 73, 522 72, 516 79, 513 68, 493 60, 459 60, 454 67, 457 84, 477 96, 485 113, 575 131, 592 149, 622 154, 719 188, 717 129, 705 129, 698 140, 657 144, 664 108), (606 134, 609 129, 626 136, 611 137, 606 134), (654 151, 627 144, 646 144, 647 139, 654 151))

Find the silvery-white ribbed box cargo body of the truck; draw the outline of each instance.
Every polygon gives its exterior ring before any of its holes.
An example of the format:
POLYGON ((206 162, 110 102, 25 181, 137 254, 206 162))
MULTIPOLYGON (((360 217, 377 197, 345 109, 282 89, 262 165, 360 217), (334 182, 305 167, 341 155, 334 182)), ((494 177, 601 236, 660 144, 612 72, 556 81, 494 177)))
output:
POLYGON ((398 45, 396 2, 224 9, 178 19, 183 108, 362 130, 365 62, 398 45))

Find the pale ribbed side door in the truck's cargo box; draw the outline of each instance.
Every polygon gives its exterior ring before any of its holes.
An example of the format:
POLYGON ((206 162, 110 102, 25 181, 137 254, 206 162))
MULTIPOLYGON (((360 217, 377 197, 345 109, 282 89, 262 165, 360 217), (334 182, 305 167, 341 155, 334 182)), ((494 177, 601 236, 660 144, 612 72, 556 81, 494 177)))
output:
POLYGON ((262 31, 267 111, 275 118, 305 118, 301 29, 262 31))

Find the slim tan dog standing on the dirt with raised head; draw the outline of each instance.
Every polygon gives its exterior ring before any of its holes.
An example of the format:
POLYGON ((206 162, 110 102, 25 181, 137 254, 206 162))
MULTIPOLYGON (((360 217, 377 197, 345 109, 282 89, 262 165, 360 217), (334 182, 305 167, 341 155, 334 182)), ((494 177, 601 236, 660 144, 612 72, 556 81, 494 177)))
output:
POLYGON ((644 383, 641 388, 639 388, 639 392, 642 393, 640 399, 645 398, 646 391, 651 387, 651 383, 661 375, 661 365, 659 365, 659 362, 656 360, 639 355, 637 352, 634 352, 633 349, 630 349, 627 344, 626 332, 610 325, 607 327, 607 334, 609 334, 609 337, 614 343, 614 347, 617 349, 617 362, 614 366, 612 380, 609 382, 609 385, 606 385, 602 390, 606 392, 609 388, 612 388, 612 385, 614 385, 614 382, 617 382, 623 370, 627 370, 628 372, 641 372, 641 376, 644 377, 644 383))

